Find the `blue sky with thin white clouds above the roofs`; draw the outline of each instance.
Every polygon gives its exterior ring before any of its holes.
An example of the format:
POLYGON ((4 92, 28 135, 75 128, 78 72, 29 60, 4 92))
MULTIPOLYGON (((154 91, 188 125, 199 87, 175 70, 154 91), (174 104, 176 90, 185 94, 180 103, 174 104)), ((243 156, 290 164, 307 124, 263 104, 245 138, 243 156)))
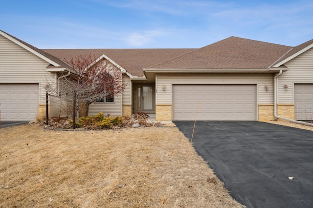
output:
POLYGON ((1 0, 0 30, 38 48, 199 48, 313 39, 312 0, 1 0))

